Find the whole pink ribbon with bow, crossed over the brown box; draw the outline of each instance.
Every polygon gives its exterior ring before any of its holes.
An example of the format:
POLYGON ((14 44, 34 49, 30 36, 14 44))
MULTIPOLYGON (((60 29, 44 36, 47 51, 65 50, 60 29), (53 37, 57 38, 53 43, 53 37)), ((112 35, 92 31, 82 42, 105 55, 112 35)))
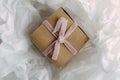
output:
POLYGON ((68 20, 66 20, 64 17, 61 17, 58 19, 55 28, 53 29, 52 25, 45 20, 43 22, 43 25, 54 35, 54 37, 56 38, 55 41, 53 41, 47 49, 45 49, 43 51, 43 54, 45 56, 47 56, 51 50, 53 50, 53 55, 52 55, 52 59, 53 60, 57 60, 58 58, 58 54, 60 51, 60 44, 63 43, 67 49, 73 54, 75 55, 77 53, 77 50, 65 39, 68 38, 71 33, 76 29, 77 27, 77 23, 74 22, 70 28, 66 31, 66 26, 67 26, 67 22, 68 20), (59 31, 60 30, 60 31, 59 31), (59 31, 59 34, 57 34, 56 32, 59 31))

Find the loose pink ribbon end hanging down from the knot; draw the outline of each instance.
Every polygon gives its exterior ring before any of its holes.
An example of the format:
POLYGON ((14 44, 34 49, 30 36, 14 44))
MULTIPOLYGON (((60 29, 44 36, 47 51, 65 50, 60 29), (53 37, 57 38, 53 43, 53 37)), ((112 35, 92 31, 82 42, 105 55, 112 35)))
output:
POLYGON ((57 60, 59 51, 60 51, 60 43, 58 41, 56 41, 55 46, 54 46, 53 55, 52 55, 53 60, 57 60))

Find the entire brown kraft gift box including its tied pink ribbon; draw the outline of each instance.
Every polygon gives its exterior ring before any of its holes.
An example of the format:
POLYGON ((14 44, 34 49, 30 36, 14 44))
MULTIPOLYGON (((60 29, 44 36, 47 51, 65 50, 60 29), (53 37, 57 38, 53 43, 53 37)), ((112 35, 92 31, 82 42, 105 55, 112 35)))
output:
POLYGON ((37 48, 57 67, 65 65, 89 40, 85 32, 59 8, 30 35, 37 48))

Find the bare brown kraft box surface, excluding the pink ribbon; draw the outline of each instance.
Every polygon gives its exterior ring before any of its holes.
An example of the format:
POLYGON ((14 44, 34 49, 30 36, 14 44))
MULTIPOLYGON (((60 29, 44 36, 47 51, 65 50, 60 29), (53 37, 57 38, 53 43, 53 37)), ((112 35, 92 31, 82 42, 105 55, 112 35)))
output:
MULTIPOLYGON (((57 20, 60 17, 65 17, 68 19, 67 29, 73 23, 72 18, 63 9, 59 8, 50 17, 48 17, 49 23, 55 27, 57 20)), ((30 39, 38 47, 38 49, 43 52, 56 38, 48 31, 48 29, 41 24, 31 35, 30 39)), ((88 36, 83 32, 83 30, 78 26, 73 33, 66 39, 78 52, 83 47, 83 45, 89 40, 88 36)), ((60 51, 57 60, 52 60, 53 51, 47 56, 58 68, 65 65, 73 56, 71 52, 64 46, 60 44, 60 51)))

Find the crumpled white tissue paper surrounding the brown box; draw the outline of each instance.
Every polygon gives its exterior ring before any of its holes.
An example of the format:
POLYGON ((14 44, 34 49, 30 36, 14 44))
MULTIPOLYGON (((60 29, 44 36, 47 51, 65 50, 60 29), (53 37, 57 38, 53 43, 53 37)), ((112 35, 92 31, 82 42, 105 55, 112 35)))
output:
POLYGON ((0 0, 0 80, 120 80, 120 0, 0 0), (29 39, 59 7, 90 37, 62 69, 29 39))

